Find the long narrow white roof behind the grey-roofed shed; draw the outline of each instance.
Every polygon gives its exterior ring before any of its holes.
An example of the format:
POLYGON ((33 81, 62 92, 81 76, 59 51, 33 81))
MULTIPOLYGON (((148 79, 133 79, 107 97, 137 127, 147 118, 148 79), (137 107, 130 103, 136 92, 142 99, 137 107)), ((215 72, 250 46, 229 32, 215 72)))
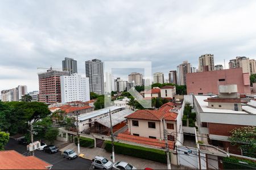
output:
POLYGON ((90 118, 93 118, 93 117, 96 117, 96 116, 100 116, 101 114, 108 113, 109 110, 110 110, 110 112, 112 112, 112 111, 115 111, 117 109, 122 109, 122 107, 111 106, 111 107, 107 107, 107 108, 104 108, 104 109, 99 109, 97 111, 92 111, 92 112, 80 114, 78 120, 79 121, 88 120, 90 118))

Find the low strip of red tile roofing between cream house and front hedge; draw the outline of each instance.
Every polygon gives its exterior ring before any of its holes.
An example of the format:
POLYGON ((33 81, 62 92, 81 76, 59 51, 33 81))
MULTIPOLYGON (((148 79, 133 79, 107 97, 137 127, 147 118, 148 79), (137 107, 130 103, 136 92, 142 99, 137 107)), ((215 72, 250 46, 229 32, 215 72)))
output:
MULTIPOLYGON (((158 147, 158 148, 164 148, 166 146, 165 142, 160 141, 159 139, 138 137, 138 136, 124 134, 124 133, 119 133, 117 138, 120 140, 123 140, 123 141, 129 141, 129 142, 139 143, 139 144, 143 144, 143 145, 154 146, 154 147, 158 147)), ((168 141, 168 145, 171 150, 174 150, 174 142, 173 141, 168 141)))

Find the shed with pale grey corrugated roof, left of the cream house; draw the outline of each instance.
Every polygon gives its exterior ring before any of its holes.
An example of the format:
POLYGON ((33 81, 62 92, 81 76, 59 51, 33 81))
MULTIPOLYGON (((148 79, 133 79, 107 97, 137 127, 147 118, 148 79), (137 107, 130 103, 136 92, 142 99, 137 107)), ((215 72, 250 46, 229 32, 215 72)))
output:
MULTIPOLYGON (((113 133, 123 128, 127 124, 126 116, 133 113, 130 109, 125 109, 123 111, 119 111, 117 113, 112 114, 112 128, 113 133)), ((106 116, 100 118, 94 122, 94 126, 90 128, 91 133, 105 134, 110 135, 111 125, 110 125, 110 117, 106 116)))

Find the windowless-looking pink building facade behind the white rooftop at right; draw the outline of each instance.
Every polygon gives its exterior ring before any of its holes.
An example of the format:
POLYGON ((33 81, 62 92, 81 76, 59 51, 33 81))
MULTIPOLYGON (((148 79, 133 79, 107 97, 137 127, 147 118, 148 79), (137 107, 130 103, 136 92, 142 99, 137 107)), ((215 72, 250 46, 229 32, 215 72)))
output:
POLYGON ((250 94, 249 73, 242 68, 187 74, 187 94, 218 94, 218 85, 237 84, 239 94, 250 94))

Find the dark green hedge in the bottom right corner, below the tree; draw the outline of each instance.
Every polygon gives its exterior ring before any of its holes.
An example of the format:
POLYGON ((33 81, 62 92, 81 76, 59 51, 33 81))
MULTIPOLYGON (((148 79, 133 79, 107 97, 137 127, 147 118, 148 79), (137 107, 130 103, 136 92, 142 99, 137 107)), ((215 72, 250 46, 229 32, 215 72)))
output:
POLYGON ((256 169, 256 163, 246 159, 239 159, 233 156, 223 158, 224 169, 256 169), (245 162, 242 164, 239 162, 245 162))

